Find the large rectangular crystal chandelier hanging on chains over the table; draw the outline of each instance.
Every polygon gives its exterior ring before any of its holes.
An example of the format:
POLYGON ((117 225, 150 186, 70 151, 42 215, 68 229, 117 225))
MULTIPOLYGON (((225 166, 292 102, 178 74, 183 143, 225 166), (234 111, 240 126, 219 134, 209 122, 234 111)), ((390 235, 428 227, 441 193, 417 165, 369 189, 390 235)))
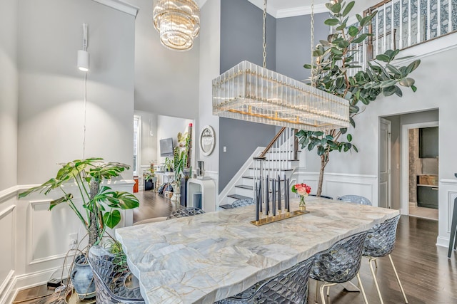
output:
POLYGON ((213 80, 213 114, 298 130, 349 126, 349 101, 243 61, 213 80))

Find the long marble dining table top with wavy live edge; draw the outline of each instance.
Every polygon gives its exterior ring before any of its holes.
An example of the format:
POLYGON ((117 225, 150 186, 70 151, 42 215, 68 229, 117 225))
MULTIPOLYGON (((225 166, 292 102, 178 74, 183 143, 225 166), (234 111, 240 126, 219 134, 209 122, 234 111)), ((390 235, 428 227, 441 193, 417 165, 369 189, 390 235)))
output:
MULTIPOLYGON (((291 199, 291 211, 298 199, 291 199)), ((116 229, 149 304, 214 303, 275 276, 397 210, 318 197, 308 214, 263 226, 255 206, 116 229)))

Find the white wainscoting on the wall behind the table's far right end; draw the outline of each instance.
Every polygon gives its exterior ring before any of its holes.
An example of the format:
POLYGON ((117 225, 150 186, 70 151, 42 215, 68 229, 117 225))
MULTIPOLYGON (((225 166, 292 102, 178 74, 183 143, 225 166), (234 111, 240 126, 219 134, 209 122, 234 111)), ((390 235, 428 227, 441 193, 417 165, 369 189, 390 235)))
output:
MULTIPOLYGON (((311 186, 311 194, 316 194, 319 173, 298 172, 298 182, 311 186)), ((322 195, 336 199, 345 194, 365 196, 373 206, 378 206, 378 177, 375 175, 326 173, 323 175, 322 195)))

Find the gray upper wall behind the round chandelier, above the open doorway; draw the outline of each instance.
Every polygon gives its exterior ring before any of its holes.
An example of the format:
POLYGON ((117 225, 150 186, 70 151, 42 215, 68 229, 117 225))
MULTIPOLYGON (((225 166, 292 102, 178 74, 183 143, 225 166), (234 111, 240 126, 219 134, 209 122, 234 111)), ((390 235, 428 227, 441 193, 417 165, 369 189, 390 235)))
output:
MULTIPOLYGON (((199 37, 190 51, 171 51, 152 24, 153 1, 126 1, 140 8, 135 21, 135 110, 196 119, 199 116, 199 37)), ((201 27, 208 24, 201 23, 201 27)))

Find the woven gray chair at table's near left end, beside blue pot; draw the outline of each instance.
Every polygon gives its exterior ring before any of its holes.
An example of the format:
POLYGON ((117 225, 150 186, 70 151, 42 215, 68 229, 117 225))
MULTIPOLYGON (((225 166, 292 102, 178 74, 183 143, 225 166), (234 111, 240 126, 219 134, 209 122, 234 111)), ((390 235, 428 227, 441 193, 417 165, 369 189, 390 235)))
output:
POLYGON ((94 273, 97 304, 143 304, 138 284, 126 285, 129 280, 137 282, 126 266, 116 262, 116 256, 101 246, 89 249, 89 265, 94 273))

